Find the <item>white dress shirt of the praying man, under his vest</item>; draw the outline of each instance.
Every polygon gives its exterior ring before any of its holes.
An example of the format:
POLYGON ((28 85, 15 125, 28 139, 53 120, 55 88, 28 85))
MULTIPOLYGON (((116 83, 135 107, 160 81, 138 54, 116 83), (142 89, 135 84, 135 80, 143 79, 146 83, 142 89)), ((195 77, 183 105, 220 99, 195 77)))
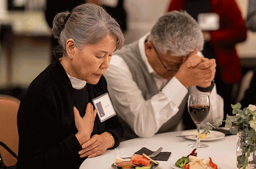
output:
MULTIPOLYGON (((157 75, 147 60, 145 54, 145 39, 148 34, 139 39, 138 45, 143 61, 150 74, 154 75, 157 88, 160 92, 149 100, 145 100, 138 89, 136 82, 124 60, 113 55, 110 66, 103 74, 107 80, 109 95, 118 115, 140 137, 151 137, 159 128, 178 112, 178 107, 187 93, 204 93, 210 96, 210 113, 201 123, 206 127, 206 122, 214 123, 216 117, 223 119, 223 99, 216 93, 216 86, 211 93, 201 92, 195 86, 186 89, 177 78, 167 80, 157 75)), ((145 86, 146 88, 147 86, 145 86)), ((184 105, 186 106, 186 105, 184 105)), ((182 127, 176 130, 182 130, 182 127)))

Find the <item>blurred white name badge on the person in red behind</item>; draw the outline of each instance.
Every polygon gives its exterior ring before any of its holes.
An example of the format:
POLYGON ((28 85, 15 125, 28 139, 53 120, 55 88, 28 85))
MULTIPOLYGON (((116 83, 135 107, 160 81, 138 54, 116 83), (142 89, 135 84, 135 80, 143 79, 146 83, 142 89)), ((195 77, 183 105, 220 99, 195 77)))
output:
POLYGON ((197 21, 202 31, 216 31, 220 28, 220 17, 216 13, 200 13, 197 21))

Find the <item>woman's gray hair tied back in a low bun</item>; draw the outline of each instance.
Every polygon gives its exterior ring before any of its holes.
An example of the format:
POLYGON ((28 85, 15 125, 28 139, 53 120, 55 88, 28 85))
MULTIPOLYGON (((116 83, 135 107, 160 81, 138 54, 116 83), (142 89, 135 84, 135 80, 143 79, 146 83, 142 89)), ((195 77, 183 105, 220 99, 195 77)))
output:
POLYGON ((124 45, 124 35, 115 19, 101 6, 90 3, 79 5, 71 12, 58 13, 53 20, 52 33, 60 44, 57 54, 67 54, 66 41, 69 38, 74 40, 78 49, 96 44, 106 35, 117 39, 117 49, 124 45))

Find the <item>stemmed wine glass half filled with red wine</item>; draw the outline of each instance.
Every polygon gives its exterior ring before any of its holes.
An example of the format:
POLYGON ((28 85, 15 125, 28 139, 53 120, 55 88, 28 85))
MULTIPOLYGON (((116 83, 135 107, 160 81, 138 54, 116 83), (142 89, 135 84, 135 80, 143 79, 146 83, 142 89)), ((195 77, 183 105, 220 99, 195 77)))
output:
POLYGON ((210 111, 209 95, 204 94, 191 94, 188 100, 189 114, 197 125, 197 141, 196 143, 189 144, 193 148, 206 148, 207 144, 200 142, 200 124, 203 122, 210 111))

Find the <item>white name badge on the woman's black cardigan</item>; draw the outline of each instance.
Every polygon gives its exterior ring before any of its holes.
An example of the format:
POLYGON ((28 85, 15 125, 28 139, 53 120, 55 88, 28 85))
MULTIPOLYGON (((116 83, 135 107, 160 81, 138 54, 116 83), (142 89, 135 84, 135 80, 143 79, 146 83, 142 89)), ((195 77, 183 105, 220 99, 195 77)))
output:
POLYGON ((98 109, 97 113, 101 120, 104 122, 105 120, 109 119, 116 115, 114 107, 109 97, 109 93, 105 93, 95 99, 92 99, 94 107, 98 109))

